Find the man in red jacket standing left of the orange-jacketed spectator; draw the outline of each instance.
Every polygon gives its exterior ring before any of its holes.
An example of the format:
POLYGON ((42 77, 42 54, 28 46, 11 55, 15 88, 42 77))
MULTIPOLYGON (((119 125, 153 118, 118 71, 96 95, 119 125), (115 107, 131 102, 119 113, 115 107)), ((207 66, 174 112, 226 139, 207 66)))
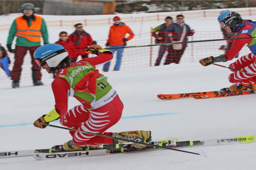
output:
POLYGON ((69 35, 68 39, 73 42, 75 46, 76 57, 71 58, 71 63, 75 63, 79 55, 82 58, 88 58, 88 54, 85 52, 88 46, 96 44, 96 41, 93 41, 91 35, 83 30, 83 25, 77 23, 74 25, 75 31, 69 35))

